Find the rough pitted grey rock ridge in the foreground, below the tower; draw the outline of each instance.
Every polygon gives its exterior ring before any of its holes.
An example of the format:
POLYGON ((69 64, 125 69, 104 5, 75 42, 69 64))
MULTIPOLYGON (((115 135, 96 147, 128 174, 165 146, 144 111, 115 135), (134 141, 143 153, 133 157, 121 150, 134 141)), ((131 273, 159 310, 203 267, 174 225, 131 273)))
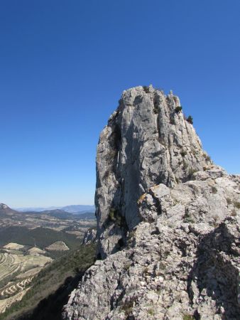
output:
POLYGON ((128 247, 89 268, 65 317, 239 319, 240 177, 222 173, 151 188, 128 247))

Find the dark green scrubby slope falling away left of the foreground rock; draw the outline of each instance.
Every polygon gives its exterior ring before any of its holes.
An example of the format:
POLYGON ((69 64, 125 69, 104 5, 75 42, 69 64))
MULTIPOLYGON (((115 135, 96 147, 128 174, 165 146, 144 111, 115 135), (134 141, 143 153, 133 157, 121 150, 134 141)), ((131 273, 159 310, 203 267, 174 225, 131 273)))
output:
MULTIPOLYGON (((32 279, 28 279, 32 276, 26 273, 25 282, 16 278, 14 284, 8 284, 7 291, 16 293, 3 300, 0 296, 0 320, 61 319, 62 305, 77 287, 83 272, 94 263, 95 250, 96 246, 92 243, 80 245, 77 250, 66 250, 65 255, 46 265, 32 279), (22 291, 16 291, 24 286, 22 291), (1 314, 4 308, 6 311, 1 314)), ((6 294, 6 287, 2 290, 6 294)))

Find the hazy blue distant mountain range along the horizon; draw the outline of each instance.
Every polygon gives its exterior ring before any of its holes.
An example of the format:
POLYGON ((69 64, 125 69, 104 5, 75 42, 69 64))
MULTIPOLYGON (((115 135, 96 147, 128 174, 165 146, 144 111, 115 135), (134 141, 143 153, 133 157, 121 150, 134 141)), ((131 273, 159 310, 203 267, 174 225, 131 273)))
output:
POLYGON ((71 205, 71 206, 65 206, 65 207, 24 207, 24 208, 15 208, 15 210, 26 212, 26 211, 35 211, 35 212, 42 212, 46 210, 63 210, 68 213, 88 213, 88 212, 95 212, 95 206, 89 206, 89 205, 71 205))

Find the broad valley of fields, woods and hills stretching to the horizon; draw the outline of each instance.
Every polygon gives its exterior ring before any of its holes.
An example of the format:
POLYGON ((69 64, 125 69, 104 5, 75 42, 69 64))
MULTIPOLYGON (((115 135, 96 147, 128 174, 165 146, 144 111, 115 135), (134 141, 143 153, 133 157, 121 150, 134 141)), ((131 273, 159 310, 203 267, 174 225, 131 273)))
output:
POLYGON ((62 210, 22 213, 0 204, 0 319, 6 318, 16 302, 28 302, 29 297, 24 296, 35 292, 39 274, 45 274, 61 257, 65 262, 65 255, 80 248, 89 225, 94 227, 96 221, 62 210))

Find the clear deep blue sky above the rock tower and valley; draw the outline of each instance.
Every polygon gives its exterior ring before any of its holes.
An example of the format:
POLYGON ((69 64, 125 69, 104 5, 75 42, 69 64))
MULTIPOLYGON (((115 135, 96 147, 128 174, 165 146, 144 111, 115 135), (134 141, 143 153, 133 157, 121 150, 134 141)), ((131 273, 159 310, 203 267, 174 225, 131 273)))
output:
POLYGON ((2 0, 0 202, 94 203, 99 133, 136 85, 172 89, 239 173, 239 14, 239 0, 2 0))

